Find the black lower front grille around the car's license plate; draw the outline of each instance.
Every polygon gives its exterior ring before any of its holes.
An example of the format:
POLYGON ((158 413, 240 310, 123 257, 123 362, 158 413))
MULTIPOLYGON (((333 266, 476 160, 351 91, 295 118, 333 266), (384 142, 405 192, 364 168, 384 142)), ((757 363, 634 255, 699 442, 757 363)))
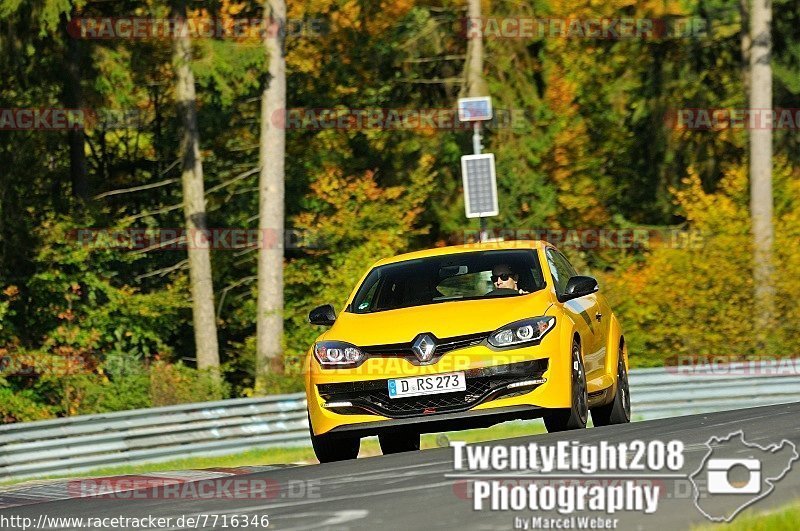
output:
POLYGON ((368 380, 339 384, 320 384, 320 395, 327 402, 346 401, 352 408, 343 412, 364 411, 390 418, 466 411, 481 402, 530 392, 531 388, 505 389, 514 382, 539 378, 547 370, 547 360, 532 360, 510 365, 465 371, 466 391, 435 395, 389 398, 388 380, 368 380))

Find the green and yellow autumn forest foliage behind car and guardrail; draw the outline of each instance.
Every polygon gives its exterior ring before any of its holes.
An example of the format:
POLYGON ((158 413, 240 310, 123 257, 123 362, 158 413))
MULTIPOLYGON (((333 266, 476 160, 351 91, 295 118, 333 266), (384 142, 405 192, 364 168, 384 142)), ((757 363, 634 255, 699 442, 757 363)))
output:
MULTIPOLYGON (((774 103, 800 97, 800 9, 775 0, 774 103)), ((0 131, 0 422, 254 393, 254 249, 212 251, 223 382, 195 369, 185 251, 86 246, 81 228, 184 226, 181 121, 170 43, 72 39, 71 17, 168 17, 164 2, 0 0, 0 109, 76 107, 84 167, 64 131, 0 131), (122 12, 127 10, 127 12, 122 12), (80 169, 80 168, 78 168, 80 169), (87 200, 76 199, 81 187, 87 200)), ((464 67, 465 3, 290 2, 311 32, 286 39, 292 109, 452 110, 464 67)), ((747 131, 678 130, 676 109, 746 105, 741 15, 722 0, 483 2, 497 19, 708 20, 704 36, 488 38, 495 109, 496 230, 669 229, 689 245, 565 249, 596 275, 619 315, 633 365, 676 355, 796 356, 800 347, 800 142, 774 135, 775 286, 779 311, 754 340, 747 131)), ((193 16, 265 17, 263 2, 190 4, 193 16)), ((665 22, 666 21, 666 22, 665 22)), ((257 39, 194 41, 198 134, 209 227, 258 226, 258 142, 265 56, 257 39)), ((376 260, 460 243, 460 157, 468 128, 317 128, 286 132, 283 374, 301 360, 376 260)))

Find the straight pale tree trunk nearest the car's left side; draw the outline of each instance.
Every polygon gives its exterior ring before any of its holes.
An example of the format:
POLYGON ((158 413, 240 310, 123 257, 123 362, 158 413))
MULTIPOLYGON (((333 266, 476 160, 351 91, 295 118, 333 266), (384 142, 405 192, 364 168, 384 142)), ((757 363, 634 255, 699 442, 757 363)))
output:
POLYGON ((281 370, 286 132, 278 117, 286 110, 286 3, 284 0, 265 0, 264 11, 274 29, 268 31, 264 39, 269 70, 261 95, 259 150, 258 228, 261 246, 258 250, 256 388, 261 391, 265 376, 281 370))

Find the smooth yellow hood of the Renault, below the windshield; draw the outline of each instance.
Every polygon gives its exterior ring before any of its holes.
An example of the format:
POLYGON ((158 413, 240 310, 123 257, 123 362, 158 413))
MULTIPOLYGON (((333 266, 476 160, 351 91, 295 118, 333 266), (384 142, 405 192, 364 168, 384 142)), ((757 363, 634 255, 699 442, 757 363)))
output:
POLYGON ((363 347, 410 342, 423 332, 440 339, 492 332, 519 319, 544 315, 551 303, 550 294, 540 290, 518 297, 450 301, 367 314, 342 312, 320 339, 363 347))

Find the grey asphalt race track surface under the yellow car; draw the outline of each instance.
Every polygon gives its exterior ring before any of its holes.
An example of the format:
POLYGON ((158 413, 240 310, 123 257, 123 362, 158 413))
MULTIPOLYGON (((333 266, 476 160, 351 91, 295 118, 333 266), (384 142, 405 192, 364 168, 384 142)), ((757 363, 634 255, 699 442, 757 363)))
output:
MULTIPOLYGON (((495 441, 511 445, 560 439, 581 442, 625 442, 635 439, 682 440, 686 462, 682 473, 690 475, 707 454, 712 436, 743 430, 746 440, 762 446, 788 439, 800 449, 800 403, 766 406, 713 414, 692 415, 622 426, 589 428, 567 434, 544 434, 495 441)), ((453 450, 438 448, 421 452, 378 456, 326 465, 287 466, 246 476, 281 486, 272 499, 66 499, 9 508, 0 516, 40 514, 83 517, 142 517, 216 515, 269 515, 269 529, 512 529, 514 518, 556 517, 524 511, 475 511, 465 494, 465 481, 453 474, 453 450), (288 492, 304 485, 310 492, 288 492)), ((239 477, 241 479, 241 476, 239 477)), ((708 523, 685 488, 688 480, 662 480, 664 495, 654 514, 616 513, 617 529, 687 529, 708 523), (680 483, 680 485, 678 485, 680 483)), ((302 490, 302 489, 300 489, 302 490)), ((157 497, 156 497, 157 498, 157 497)), ((800 498, 800 462, 774 490, 751 509, 769 511, 800 498)), ((713 502, 713 500, 712 500, 713 502)), ((208 522, 208 520, 206 520, 208 522)), ((187 527, 173 527, 183 529, 187 527)), ((221 525, 198 528, 223 529, 221 525)), ((228 528, 231 528, 230 526, 228 528)), ((248 529, 256 529, 248 527, 248 529)))

